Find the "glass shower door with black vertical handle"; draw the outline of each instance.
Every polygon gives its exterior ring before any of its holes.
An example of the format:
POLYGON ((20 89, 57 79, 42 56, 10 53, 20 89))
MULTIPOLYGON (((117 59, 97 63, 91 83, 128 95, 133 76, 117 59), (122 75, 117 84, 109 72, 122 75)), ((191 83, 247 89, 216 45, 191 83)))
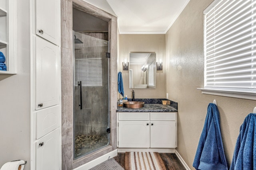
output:
POLYGON ((108 41, 73 32, 74 159, 110 144, 108 41))

